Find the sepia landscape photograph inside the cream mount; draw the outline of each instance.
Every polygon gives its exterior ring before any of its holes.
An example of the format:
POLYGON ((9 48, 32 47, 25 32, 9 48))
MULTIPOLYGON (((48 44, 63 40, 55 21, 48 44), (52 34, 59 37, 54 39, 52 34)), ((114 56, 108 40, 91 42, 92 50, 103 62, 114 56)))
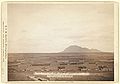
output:
POLYGON ((114 81, 114 2, 7 3, 8 81, 114 81))

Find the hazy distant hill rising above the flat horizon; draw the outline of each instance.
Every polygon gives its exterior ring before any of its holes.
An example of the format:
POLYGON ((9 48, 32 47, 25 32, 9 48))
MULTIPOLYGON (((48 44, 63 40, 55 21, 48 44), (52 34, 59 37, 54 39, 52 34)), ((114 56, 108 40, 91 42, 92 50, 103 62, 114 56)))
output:
POLYGON ((101 52, 97 49, 88 49, 88 48, 82 48, 77 45, 71 45, 64 49, 62 53, 81 53, 81 52, 101 52))

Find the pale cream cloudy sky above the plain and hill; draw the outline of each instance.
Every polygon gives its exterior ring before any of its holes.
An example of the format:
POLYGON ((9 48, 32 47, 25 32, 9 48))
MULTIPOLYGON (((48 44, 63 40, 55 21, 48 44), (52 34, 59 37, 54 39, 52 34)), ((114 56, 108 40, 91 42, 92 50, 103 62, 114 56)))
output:
POLYGON ((8 52, 56 53, 70 45, 114 51, 113 4, 8 4, 8 52))

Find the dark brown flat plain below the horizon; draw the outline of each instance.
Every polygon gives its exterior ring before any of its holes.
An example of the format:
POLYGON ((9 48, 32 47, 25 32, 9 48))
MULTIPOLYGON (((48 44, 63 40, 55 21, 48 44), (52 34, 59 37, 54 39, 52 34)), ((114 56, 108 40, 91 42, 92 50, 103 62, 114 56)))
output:
POLYGON ((9 81, 113 81, 113 53, 9 53, 9 81), (35 73, 45 73, 35 74, 35 73), (46 73, 54 73, 48 75, 46 73), (89 73, 61 75, 57 73, 89 73))

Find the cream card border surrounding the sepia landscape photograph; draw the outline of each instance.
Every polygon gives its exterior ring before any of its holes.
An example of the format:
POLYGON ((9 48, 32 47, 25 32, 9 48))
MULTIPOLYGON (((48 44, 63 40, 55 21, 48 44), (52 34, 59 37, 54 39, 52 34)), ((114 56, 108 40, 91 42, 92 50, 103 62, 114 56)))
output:
POLYGON ((5 1, 1 2, 1 81, 4 83, 10 84, 26 84, 26 83, 82 83, 82 84, 106 84, 106 83, 118 83, 119 81, 119 2, 114 1, 5 1), (103 3, 114 3, 114 81, 8 81, 8 25, 7 25, 7 3, 94 3, 94 2, 103 2, 103 3))

